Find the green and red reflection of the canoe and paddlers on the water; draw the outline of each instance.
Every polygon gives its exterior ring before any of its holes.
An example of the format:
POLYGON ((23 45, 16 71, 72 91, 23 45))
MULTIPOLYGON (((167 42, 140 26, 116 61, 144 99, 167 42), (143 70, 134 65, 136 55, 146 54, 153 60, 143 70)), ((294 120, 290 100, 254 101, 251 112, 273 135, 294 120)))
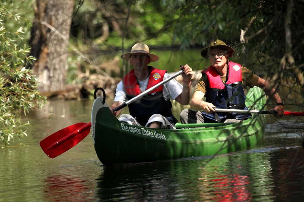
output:
MULTIPOLYGON (((269 158, 269 157, 268 157, 269 158)), ((242 154, 135 164, 107 168, 97 179, 100 200, 251 200, 271 187, 270 162, 264 155, 242 154), (254 159, 252 159, 254 158, 254 159), (266 166, 265 166, 266 165, 266 166), (261 189, 261 190, 260 190, 261 189)), ((270 197, 268 197, 270 199, 270 197)))

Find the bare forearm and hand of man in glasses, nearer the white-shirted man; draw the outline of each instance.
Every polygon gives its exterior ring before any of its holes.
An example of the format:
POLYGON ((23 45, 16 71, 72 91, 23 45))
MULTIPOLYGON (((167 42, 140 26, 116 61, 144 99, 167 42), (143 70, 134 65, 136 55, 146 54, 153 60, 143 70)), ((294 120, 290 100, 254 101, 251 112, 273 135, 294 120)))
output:
POLYGON ((204 102, 202 99, 204 98, 205 93, 202 91, 195 91, 192 99, 190 101, 190 106, 193 109, 203 110, 205 113, 213 113, 215 110, 213 108, 216 108, 212 103, 204 102))

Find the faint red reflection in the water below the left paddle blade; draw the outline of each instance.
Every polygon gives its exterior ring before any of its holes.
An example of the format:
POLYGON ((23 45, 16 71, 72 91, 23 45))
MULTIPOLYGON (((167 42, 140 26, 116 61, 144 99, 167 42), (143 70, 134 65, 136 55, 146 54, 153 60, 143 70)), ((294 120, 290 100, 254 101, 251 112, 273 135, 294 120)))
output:
POLYGON ((85 186, 86 181, 80 177, 57 175, 47 177, 44 182, 46 183, 44 190, 46 198, 52 201, 88 199, 88 193, 85 191, 88 189, 85 186))

